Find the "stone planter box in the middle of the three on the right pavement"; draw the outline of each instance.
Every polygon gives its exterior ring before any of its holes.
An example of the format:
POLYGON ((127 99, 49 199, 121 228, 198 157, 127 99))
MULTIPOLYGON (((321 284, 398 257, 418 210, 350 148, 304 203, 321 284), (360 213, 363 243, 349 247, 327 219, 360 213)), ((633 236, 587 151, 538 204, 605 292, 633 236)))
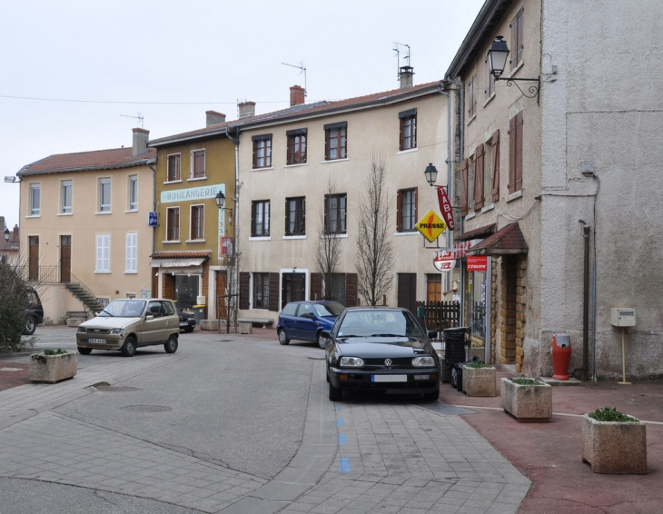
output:
POLYGON ((521 423, 549 421, 552 418, 552 387, 549 384, 520 385, 510 379, 502 379, 500 389, 502 409, 521 423))

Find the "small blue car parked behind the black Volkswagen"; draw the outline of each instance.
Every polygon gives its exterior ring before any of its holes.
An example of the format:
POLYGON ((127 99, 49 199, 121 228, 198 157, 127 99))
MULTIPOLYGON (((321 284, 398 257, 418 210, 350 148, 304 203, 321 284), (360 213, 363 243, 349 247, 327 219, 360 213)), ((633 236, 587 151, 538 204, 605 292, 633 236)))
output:
POLYGON ((330 331, 344 307, 337 301, 291 301, 279 314, 276 333, 281 344, 292 339, 315 341, 321 348, 327 342, 322 331, 330 331))

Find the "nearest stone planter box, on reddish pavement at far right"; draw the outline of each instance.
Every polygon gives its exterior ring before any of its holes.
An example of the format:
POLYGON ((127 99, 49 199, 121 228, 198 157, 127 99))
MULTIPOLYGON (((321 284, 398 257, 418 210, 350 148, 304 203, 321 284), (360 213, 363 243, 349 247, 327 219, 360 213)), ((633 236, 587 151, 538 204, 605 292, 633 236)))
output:
POLYGON ((647 473, 645 423, 582 420, 582 461, 595 473, 647 473))

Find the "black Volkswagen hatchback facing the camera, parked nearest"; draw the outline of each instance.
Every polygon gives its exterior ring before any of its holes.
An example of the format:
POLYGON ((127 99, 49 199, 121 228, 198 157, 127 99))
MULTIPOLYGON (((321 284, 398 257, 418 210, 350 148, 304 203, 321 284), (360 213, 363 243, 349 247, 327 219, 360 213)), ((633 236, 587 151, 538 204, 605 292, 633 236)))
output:
POLYGON ((421 329, 407 309, 351 307, 341 313, 325 349, 329 399, 343 390, 440 396, 440 358, 430 343, 434 332, 421 329))

